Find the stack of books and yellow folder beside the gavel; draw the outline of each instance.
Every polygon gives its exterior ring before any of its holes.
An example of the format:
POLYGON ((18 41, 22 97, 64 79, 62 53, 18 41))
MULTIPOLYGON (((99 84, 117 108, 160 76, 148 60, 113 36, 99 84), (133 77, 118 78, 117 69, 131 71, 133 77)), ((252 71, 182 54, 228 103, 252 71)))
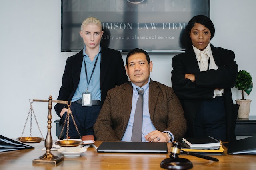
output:
POLYGON ((221 155, 224 152, 221 141, 213 137, 186 137, 183 138, 181 149, 197 154, 221 155))

